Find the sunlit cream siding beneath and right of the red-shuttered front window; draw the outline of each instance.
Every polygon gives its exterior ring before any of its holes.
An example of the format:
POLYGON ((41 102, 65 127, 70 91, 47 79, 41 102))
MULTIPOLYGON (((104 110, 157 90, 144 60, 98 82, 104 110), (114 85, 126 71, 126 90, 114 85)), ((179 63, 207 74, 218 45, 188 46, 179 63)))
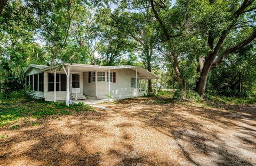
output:
MULTIPOLYGON (((114 99, 136 96, 136 88, 131 87, 131 78, 136 77, 135 71, 132 69, 113 69, 110 70, 110 72, 116 73, 116 83, 110 82, 110 93, 113 95, 114 99)), ((96 89, 97 98, 107 98, 106 94, 108 93, 108 82, 97 82, 96 89)))

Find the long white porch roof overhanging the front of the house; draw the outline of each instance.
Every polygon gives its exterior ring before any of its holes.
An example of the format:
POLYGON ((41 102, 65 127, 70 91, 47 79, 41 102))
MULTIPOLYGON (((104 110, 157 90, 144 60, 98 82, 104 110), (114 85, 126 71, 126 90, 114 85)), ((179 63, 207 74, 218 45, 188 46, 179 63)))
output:
MULTIPOLYGON (((132 69, 140 73, 139 78, 159 78, 154 73, 149 72, 147 69, 139 67, 139 66, 99 66, 99 65, 85 65, 85 64, 65 64, 64 66, 70 67, 70 72, 93 72, 93 71, 106 71, 108 69, 132 69)), ((53 68, 58 68, 59 66, 47 66, 41 69, 41 71, 48 71, 53 68)), ((63 68, 59 68, 59 71, 63 71, 63 68)))

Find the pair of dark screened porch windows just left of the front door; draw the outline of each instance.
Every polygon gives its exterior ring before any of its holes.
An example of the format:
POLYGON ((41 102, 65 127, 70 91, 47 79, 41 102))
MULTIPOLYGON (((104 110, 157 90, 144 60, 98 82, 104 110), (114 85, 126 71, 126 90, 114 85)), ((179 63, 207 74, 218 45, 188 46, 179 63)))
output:
MULTIPOLYGON (((67 90, 66 74, 56 74, 56 91, 67 90)), ((48 73, 48 91, 54 91, 54 74, 48 73)))

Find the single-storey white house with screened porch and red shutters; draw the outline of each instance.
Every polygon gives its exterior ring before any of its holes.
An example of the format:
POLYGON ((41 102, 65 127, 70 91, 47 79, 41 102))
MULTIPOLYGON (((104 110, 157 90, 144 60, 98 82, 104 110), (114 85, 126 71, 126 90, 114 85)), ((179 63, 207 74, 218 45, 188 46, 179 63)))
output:
POLYGON ((141 79, 158 77, 138 66, 97 66, 65 64, 44 66, 31 64, 25 70, 26 86, 37 98, 45 101, 95 98, 111 95, 114 99, 136 97, 146 93, 139 90, 141 79), (67 91, 68 89, 68 91, 67 91))

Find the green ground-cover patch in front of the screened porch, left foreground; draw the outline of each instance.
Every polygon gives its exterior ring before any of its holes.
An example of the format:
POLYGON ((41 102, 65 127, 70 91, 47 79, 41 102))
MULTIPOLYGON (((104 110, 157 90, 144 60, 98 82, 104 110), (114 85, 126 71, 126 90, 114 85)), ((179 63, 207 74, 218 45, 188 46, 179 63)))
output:
MULTIPOLYGON (((53 115, 72 115, 73 111, 94 111, 88 104, 82 102, 72 103, 66 106, 65 102, 45 102, 42 100, 2 100, 0 101, 0 127, 10 126, 17 122, 18 119, 24 118, 23 123, 28 123, 29 118, 41 119, 42 117, 53 115)), ((37 126, 34 123, 32 126, 37 126)), ((19 126, 14 125, 11 128, 17 129, 19 126)))

